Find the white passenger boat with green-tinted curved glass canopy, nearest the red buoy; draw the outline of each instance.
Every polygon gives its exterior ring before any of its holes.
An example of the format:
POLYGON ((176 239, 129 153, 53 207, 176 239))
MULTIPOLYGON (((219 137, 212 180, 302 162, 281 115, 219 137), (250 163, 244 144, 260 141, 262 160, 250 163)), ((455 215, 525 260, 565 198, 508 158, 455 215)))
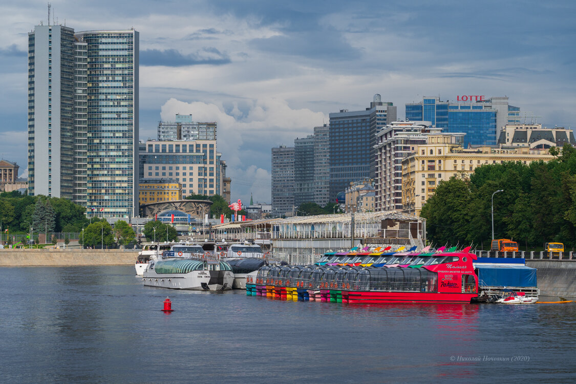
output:
POLYGON ((202 246, 175 244, 144 271, 148 287, 177 290, 223 291, 234 283, 232 268, 218 257, 207 257, 202 246))

